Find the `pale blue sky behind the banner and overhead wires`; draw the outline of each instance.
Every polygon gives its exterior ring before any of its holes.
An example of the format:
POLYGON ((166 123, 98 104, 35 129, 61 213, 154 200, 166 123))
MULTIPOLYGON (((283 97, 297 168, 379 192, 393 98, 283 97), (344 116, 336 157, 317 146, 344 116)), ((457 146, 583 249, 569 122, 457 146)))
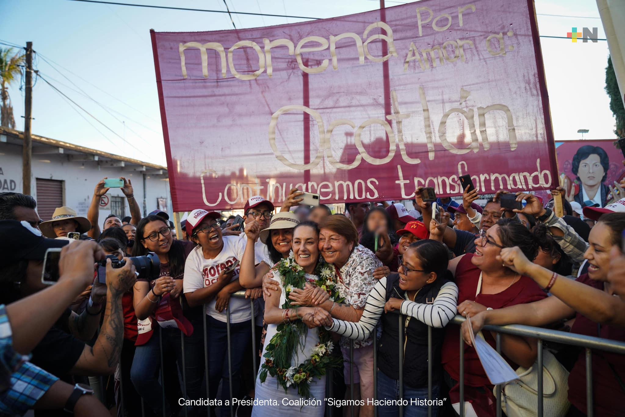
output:
MULTIPOLYGON (((378 0, 225 0, 230 11, 332 18, 379 8, 378 0)), ((506 0, 512 1, 512 0, 506 0)), ((517 0, 514 0, 517 1, 517 0)), ((224 0, 124 0, 123 3, 226 10, 224 0)), ((386 6, 407 3, 386 1, 386 6)), ((571 27, 598 28, 592 0, 536 0, 541 35, 566 36, 571 27), (560 16, 549 16, 560 15, 560 16)), ((232 15, 237 28, 306 19, 232 15)), ((0 43, 32 41, 42 78, 33 89, 32 132, 142 161, 166 165, 149 29, 232 29, 225 13, 174 11, 69 0, 0 0, 0 43), (43 79, 58 88, 61 96, 43 79), (91 118, 78 106, 92 114, 91 118), (106 125, 106 126, 104 126, 106 125)), ((6 48, 6 45, 0 45, 6 48)), ((604 90, 606 41, 572 43, 541 38, 554 139, 616 139, 604 90)), ((24 128, 24 93, 9 88, 16 128, 24 128)))

